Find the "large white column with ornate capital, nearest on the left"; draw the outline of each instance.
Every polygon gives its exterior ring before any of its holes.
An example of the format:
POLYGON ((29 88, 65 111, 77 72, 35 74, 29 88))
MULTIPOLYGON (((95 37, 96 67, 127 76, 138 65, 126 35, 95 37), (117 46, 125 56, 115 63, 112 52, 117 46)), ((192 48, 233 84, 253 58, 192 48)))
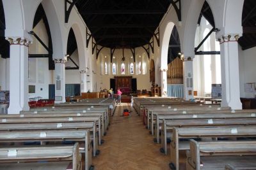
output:
POLYGON ((28 46, 30 40, 6 37, 10 43, 10 106, 8 114, 28 111, 28 46))

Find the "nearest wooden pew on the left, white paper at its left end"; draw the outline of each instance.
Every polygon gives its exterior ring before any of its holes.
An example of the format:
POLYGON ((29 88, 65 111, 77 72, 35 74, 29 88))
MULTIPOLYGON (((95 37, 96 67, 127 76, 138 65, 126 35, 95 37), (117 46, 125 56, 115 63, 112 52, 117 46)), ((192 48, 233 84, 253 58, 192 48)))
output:
POLYGON ((0 162, 36 162, 72 160, 72 169, 81 170, 79 145, 74 146, 37 146, 0 148, 0 162))

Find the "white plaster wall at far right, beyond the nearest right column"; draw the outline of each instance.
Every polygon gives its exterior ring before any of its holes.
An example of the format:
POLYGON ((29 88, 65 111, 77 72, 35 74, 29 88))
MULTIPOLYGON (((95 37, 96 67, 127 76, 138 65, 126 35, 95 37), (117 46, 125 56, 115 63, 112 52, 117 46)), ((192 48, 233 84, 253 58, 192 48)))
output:
POLYGON ((248 50, 242 50, 241 46, 238 48, 239 52, 239 78, 240 78, 240 96, 254 97, 255 94, 244 91, 244 83, 256 83, 255 63, 256 63, 256 47, 248 50))

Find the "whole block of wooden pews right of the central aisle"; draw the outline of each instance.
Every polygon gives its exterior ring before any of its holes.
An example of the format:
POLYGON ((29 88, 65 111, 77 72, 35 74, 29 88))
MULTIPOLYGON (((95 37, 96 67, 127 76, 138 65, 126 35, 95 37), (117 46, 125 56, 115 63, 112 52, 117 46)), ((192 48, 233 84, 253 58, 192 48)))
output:
POLYGON ((170 169, 256 169, 256 110, 152 97, 134 98, 134 108, 170 169))

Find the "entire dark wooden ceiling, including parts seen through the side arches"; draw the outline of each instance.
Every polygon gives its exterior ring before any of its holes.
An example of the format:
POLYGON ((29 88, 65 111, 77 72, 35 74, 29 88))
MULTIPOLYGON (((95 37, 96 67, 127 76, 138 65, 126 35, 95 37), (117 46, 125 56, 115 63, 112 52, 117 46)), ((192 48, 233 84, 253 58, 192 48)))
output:
MULTIPOLYGON (((150 38, 152 38, 152 32, 158 27, 170 3, 171 0, 77 0, 76 7, 99 45, 111 48, 134 48, 148 44, 150 38)), ((42 18, 46 18, 42 5, 38 9, 33 24, 34 27, 42 18)), ((206 1, 200 13, 198 24, 200 24, 202 16, 209 21, 212 27, 215 27, 211 8, 206 1)), ((47 18, 44 19, 44 22, 48 26, 46 20, 47 18)), ((255 24, 256 0, 244 0, 243 37, 239 39, 239 45, 243 50, 256 46, 255 24)), ((10 56, 10 45, 4 39, 4 29, 4 9, 2 0, 0 0, 0 54, 3 58, 6 58, 10 56)), ((51 37, 51 32, 48 32, 51 37)), ((71 39, 76 41, 74 36, 71 36, 71 39)), ((170 38, 171 57, 177 56, 180 51, 178 39, 179 35, 173 31, 170 38)), ((72 43, 68 43, 68 52, 72 52, 74 46, 72 43)))

